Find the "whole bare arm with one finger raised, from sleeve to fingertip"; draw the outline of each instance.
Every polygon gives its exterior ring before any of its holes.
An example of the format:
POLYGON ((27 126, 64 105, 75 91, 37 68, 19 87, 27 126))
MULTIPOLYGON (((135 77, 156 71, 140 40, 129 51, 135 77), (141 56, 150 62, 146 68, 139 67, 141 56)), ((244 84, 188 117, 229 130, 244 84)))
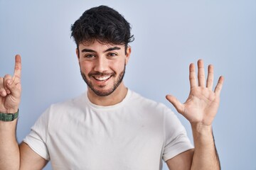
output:
MULTIPOLYGON (((21 57, 16 55, 14 76, 0 77, 0 112, 16 113, 21 101, 21 57)), ((18 146, 16 140, 17 119, 0 120, 0 170, 42 169, 46 160, 26 144, 18 146)))

